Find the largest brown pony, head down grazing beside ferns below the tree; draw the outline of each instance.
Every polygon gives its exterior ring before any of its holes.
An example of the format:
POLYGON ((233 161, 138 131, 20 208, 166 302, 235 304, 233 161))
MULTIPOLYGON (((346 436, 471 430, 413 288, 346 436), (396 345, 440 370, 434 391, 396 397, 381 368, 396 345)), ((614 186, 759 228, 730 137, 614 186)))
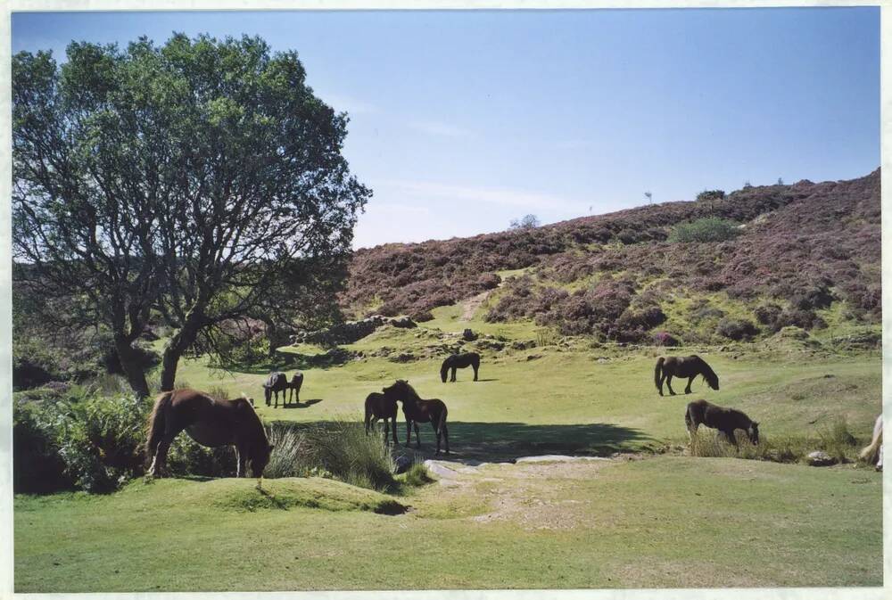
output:
POLYGON ((246 476, 248 464, 254 477, 260 477, 273 449, 250 400, 215 400, 196 390, 165 391, 149 416, 145 457, 146 462, 152 457, 150 475, 167 474, 170 443, 183 430, 202 446, 235 446, 235 477, 246 476))

